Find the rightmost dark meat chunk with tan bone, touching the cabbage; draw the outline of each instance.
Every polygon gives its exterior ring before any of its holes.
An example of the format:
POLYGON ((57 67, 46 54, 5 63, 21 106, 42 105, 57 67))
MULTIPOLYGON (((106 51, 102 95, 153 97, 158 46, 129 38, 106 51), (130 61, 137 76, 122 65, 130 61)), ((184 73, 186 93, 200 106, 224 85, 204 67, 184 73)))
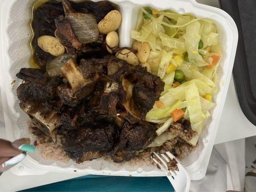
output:
MULTIPOLYGON (((163 91, 164 83, 141 66, 128 70, 121 67, 120 71, 122 71, 119 77, 122 84, 122 106, 125 108, 124 112, 120 112, 121 116, 131 123, 140 119, 145 120, 147 112, 163 91)), ((116 74, 119 73, 119 71, 116 72, 116 74)))

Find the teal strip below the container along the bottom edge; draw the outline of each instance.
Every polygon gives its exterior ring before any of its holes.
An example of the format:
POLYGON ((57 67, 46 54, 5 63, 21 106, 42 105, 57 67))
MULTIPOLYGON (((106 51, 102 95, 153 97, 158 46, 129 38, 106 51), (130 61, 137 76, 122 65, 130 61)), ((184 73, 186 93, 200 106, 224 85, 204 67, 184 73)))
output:
POLYGON ((166 177, 88 175, 22 192, 174 192, 174 189, 166 177))

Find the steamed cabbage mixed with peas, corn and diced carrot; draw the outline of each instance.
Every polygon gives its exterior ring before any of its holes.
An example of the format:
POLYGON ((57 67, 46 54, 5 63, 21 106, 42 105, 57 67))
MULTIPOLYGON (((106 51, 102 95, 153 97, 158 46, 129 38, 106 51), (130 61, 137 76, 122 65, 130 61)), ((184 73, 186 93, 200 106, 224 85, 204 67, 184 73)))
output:
POLYGON ((174 121, 185 119, 197 132, 189 141, 196 145, 215 106, 212 96, 217 90, 221 48, 214 21, 146 7, 139 11, 131 36, 134 45, 148 47, 148 54, 143 60, 137 55, 138 60, 165 82, 159 101, 146 115, 149 122, 163 123, 155 143, 159 146, 175 137, 165 131, 174 121))

